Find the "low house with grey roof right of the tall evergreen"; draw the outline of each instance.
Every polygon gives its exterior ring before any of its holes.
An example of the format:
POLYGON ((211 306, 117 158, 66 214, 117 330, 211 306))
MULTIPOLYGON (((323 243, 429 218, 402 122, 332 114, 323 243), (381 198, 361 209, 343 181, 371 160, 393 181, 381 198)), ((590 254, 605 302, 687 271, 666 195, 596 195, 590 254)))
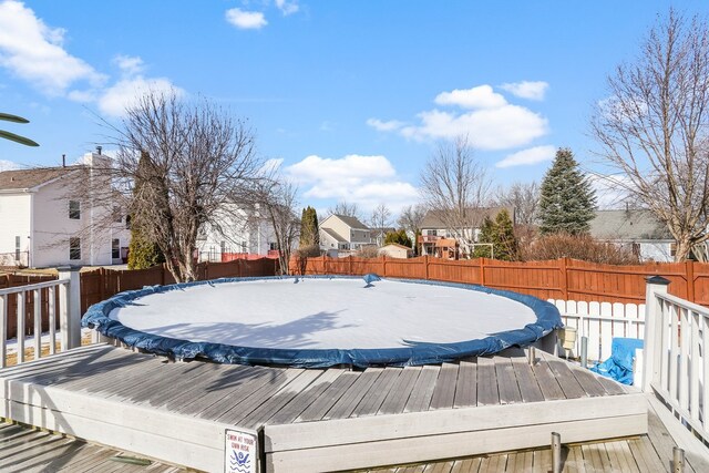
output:
POLYGON ((590 236, 629 249, 640 261, 675 259, 675 239, 647 209, 596 210, 590 236))

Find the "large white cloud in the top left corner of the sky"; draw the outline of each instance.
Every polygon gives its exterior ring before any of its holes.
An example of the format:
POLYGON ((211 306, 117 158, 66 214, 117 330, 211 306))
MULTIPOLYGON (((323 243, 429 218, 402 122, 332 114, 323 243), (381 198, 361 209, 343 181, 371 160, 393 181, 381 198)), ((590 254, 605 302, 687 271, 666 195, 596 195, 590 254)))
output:
POLYGON ((76 82, 99 86, 106 79, 64 50, 64 34, 19 1, 0 3, 0 65, 48 95, 64 94, 76 82))

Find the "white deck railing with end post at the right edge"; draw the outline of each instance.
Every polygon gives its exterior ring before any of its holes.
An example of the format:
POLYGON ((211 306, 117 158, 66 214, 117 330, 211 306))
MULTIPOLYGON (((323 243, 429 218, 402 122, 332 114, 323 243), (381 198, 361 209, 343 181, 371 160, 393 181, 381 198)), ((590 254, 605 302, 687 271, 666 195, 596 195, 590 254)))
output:
POLYGON ((661 278, 648 282, 643 388, 709 441, 709 309, 667 294, 661 278))

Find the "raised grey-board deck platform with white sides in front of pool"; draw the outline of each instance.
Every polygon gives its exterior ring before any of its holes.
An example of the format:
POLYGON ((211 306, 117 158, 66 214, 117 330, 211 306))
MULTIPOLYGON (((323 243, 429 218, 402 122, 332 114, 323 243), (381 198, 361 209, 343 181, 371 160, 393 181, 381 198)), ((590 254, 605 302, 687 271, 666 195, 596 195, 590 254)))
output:
POLYGON ((537 356, 348 371, 93 346, 0 370, 0 417, 205 471, 223 470, 235 426, 260 433, 266 471, 289 472, 534 449, 552 431, 565 443, 647 432, 644 394, 537 356))

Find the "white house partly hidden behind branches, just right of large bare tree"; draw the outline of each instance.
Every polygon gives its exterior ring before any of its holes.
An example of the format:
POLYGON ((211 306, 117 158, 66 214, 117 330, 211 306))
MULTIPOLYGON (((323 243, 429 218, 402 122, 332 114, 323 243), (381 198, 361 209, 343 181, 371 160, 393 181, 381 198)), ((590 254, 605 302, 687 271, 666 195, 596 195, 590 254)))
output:
POLYGON ((274 227, 258 209, 232 206, 218 220, 219 229, 207 225, 197 237, 201 261, 278 257, 274 227))

